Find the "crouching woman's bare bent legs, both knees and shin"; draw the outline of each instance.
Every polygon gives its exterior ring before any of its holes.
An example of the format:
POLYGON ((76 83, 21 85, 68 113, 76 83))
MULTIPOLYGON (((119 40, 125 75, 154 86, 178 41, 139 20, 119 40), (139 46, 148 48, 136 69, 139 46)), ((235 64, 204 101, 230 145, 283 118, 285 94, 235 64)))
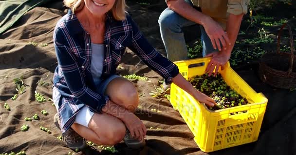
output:
MULTIPOLYGON (((138 106, 137 90, 125 78, 113 79, 107 86, 105 93, 110 97, 111 101, 128 109, 130 112, 134 112, 138 106)), ((123 140, 126 134, 125 124, 118 118, 106 113, 94 113, 89 128, 75 123, 71 127, 84 139, 100 145, 114 145, 123 140)))

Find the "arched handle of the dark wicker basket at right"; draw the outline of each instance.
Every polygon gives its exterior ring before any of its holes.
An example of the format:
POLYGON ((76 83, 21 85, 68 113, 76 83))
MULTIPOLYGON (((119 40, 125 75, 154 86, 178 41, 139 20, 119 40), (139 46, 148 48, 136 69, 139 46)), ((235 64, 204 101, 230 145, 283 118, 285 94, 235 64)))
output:
POLYGON ((278 32, 278 36, 277 36, 277 54, 279 54, 279 48, 280 48, 280 35, 281 35, 281 31, 284 29, 284 27, 288 28, 288 31, 289 31, 289 35, 290 35, 290 46, 291 46, 291 57, 290 57, 290 61, 289 61, 289 70, 288 70, 288 76, 290 76, 290 74, 292 73, 292 70, 293 70, 293 64, 294 64, 294 53, 293 53, 293 34, 292 34, 292 31, 291 31, 291 27, 289 24, 287 23, 284 23, 279 32, 278 32))

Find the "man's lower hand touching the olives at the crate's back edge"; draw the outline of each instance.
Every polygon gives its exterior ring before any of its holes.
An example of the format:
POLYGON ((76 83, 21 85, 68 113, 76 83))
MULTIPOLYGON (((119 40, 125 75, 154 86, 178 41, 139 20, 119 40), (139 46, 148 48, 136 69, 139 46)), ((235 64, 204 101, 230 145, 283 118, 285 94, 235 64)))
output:
POLYGON ((219 68, 221 67, 221 69, 223 69, 226 62, 228 62, 228 60, 230 59, 230 52, 213 52, 206 55, 205 57, 212 57, 211 61, 208 63, 205 69, 205 73, 208 73, 209 76, 211 76, 216 67, 214 73, 214 76, 216 76, 219 68))

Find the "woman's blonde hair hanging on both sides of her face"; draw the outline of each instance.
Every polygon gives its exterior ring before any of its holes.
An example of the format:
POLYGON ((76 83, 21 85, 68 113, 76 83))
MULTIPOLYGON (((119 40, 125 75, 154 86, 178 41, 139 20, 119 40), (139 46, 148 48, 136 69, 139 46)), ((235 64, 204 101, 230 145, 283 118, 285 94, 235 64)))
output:
MULTIPOLYGON (((79 12, 84 7, 84 0, 64 0, 64 4, 69 7, 73 13, 79 12)), ((126 19, 126 1, 125 0, 115 0, 115 3, 111 9, 112 16, 116 20, 126 19)))

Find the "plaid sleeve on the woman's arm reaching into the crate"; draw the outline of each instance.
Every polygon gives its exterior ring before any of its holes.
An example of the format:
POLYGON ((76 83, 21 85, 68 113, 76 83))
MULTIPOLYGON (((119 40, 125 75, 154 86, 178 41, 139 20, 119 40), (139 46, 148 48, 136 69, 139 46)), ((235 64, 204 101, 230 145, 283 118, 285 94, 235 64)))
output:
POLYGON ((172 78, 179 74, 179 68, 173 62, 162 56, 154 47, 152 47, 136 23, 128 16, 132 27, 132 40, 129 49, 131 49, 149 68, 165 78, 165 82, 172 83, 172 78))

